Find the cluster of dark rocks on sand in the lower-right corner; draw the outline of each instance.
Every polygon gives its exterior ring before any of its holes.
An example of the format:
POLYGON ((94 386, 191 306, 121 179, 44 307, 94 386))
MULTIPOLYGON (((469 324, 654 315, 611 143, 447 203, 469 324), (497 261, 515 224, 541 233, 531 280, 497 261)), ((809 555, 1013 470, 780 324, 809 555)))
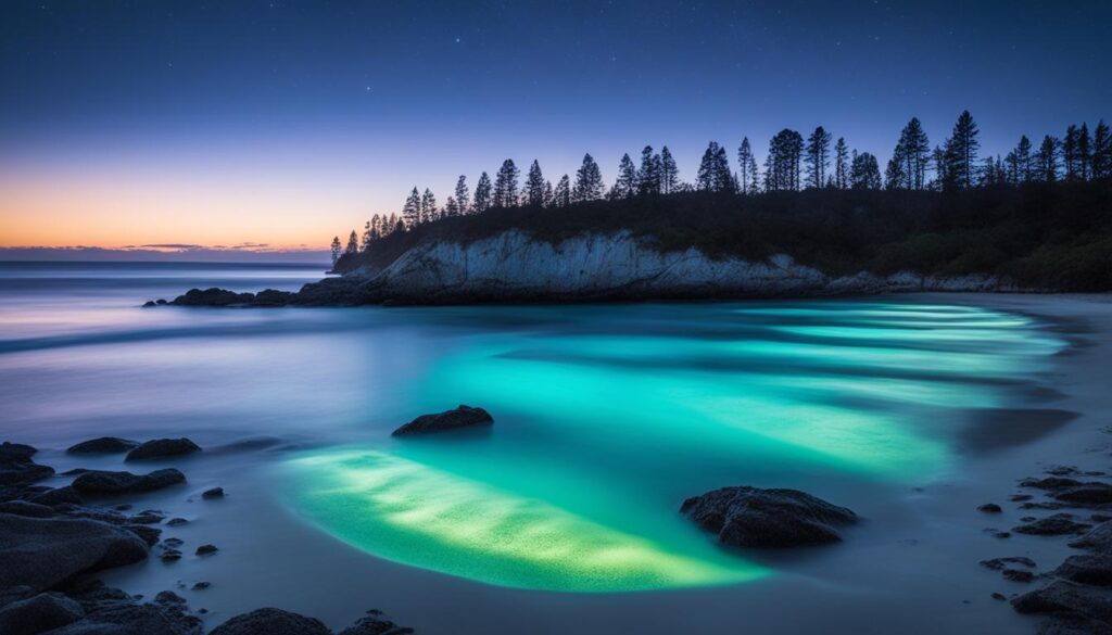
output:
MULTIPOLYGON (((1044 633, 1112 633, 1112 485, 1080 480, 1074 468, 1059 467, 1045 478, 1026 478, 1020 486, 1043 493, 1042 499, 1017 494, 1012 500, 1022 510, 1051 510, 1044 517, 1024 516, 1012 528, 1016 534, 1068 536, 1070 547, 1081 553, 1069 556, 1056 568, 1037 575, 1034 560, 1011 556, 983 560, 1000 570, 1005 579, 1020 583, 1045 583, 1040 588, 1013 596, 1012 607, 1023 614, 1045 618, 1044 633), (1069 509, 1069 512, 1065 512, 1069 509)), ((997 507, 999 509, 999 507, 997 507)), ((1006 533, 1005 533, 1006 534, 1006 533)), ((1006 599, 1003 594, 993 597, 1006 599)))

